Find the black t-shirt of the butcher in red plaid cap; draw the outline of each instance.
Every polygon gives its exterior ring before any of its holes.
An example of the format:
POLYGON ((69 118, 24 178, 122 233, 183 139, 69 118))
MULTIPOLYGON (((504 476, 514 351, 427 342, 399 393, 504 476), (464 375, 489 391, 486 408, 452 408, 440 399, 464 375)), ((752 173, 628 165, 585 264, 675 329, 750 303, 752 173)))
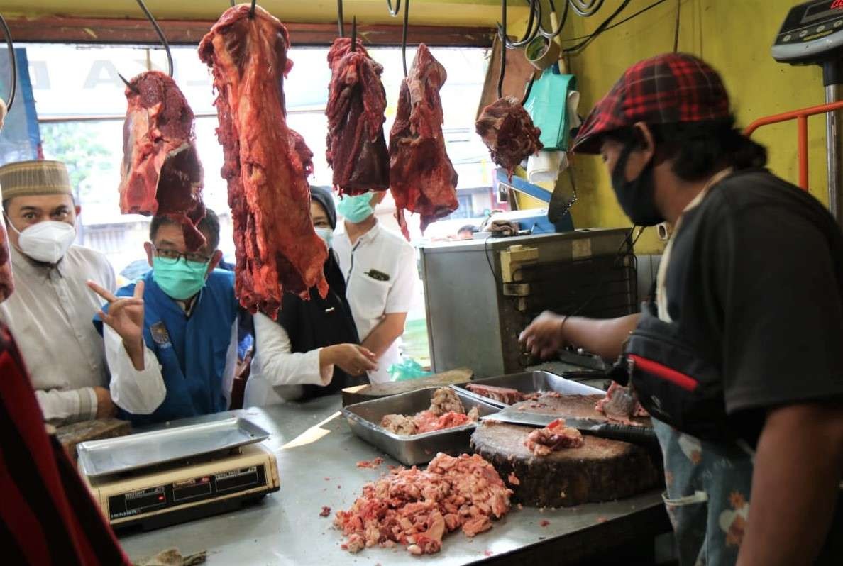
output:
POLYGON ((665 285, 753 444, 766 408, 843 396, 843 235, 805 191, 765 169, 711 187, 682 218, 665 285))

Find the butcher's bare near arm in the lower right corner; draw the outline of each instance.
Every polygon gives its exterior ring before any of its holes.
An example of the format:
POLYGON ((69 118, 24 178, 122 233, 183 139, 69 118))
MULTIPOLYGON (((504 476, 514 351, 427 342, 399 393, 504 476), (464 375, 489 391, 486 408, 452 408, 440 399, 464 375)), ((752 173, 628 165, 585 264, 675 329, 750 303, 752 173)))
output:
POLYGON ((834 515, 841 471, 843 404, 772 409, 755 453, 738 566, 813 564, 834 515))

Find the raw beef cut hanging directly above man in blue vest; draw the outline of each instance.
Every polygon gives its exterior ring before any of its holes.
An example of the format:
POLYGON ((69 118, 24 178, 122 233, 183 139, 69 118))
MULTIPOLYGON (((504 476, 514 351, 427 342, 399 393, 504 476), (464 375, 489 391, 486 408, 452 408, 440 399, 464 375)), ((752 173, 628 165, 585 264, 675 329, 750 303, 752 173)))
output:
POLYGON ((188 249, 201 248, 205 237, 196 223, 205 206, 191 107, 175 81, 158 71, 134 77, 126 99, 120 211, 168 216, 182 225, 188 249))

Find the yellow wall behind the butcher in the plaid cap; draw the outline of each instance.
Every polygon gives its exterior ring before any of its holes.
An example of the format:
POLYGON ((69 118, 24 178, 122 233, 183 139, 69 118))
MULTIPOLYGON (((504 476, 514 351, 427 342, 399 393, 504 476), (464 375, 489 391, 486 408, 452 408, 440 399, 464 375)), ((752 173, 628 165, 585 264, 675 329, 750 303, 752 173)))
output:
MULTIPOLYGON (((618 19, 650 3, 652 0, 633 0, 618 19)), ((681 3, 679 50, 701 56, 722 74, 741 126, 760 116, 824 102, 819 67, 781 65, 770 54, 773 38, 794 3, 794 0, 683 0, 681 3)), ((620 0, 607 0, 600 13, 592 18, 573 16, 564 37, 592 32, 619 5, 620 0)), ((638 18, 610 29, 582 55, 572 57, 571 72, 577 75, 578 88, 583 94, 581 114, 588 113, 626 67, 648 56, 673 50, 675 18, 676 0, 668 0, 638 18)), ((810 120, 810 187, 813 195, 826 202, 824 130, 822 116, 810 120)), ((796 123, 766 126, 754 135, 754 139, 768 147, 772 171, 796 183, 796 123)), ((599 158, 579 156, 575 159, 580 198, 572 215, 577 227, 630 225, 615 201, 604 169, 599 158)), ((639 254, 655 253, 662 248, 655 231, 647 232, 636 246, 639 254)))

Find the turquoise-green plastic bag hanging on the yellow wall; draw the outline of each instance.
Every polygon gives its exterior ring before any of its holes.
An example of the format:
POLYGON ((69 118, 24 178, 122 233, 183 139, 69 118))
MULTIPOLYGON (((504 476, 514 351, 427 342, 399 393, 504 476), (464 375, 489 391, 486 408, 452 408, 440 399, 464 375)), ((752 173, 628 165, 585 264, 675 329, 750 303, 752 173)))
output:
POLYGON ((557 63, 547 67, 537 78, 524 103, 524 109, 540 128, 539 140, 547 151, 567 151, 568 94, 577 88, 575 75, 562 75, 557 63))

